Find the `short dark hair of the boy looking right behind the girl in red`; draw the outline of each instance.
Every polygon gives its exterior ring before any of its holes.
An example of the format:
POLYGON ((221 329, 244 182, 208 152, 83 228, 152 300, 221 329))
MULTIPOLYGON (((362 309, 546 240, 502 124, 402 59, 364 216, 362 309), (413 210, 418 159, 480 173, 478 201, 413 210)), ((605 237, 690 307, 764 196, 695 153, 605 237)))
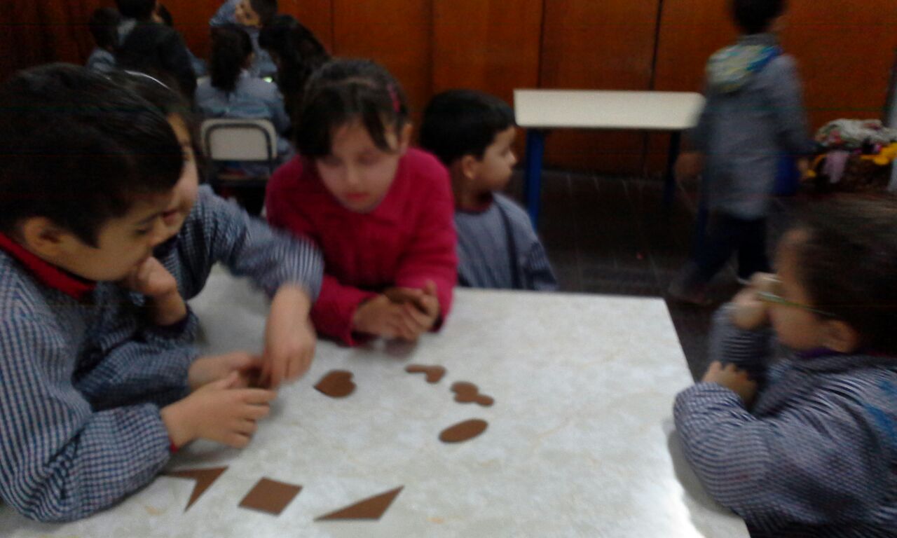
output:
POLYGON ((465 155, 482 159, 495 135, 514 125, 514 110, 497 97, 475 90, 443 91, 423 111, 421 146, 446 166, 465 155))

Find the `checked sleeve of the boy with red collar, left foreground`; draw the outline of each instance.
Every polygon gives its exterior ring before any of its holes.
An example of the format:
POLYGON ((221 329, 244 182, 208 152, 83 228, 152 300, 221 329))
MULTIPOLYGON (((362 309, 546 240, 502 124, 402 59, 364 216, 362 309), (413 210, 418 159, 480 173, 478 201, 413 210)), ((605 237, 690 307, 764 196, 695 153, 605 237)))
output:
POLYGON ((26 316, 0 322, 0 497, 23 516, 71 521, 143 487, 170 457, 159 407, 94 412, 63 371, 67 337, 26 316))

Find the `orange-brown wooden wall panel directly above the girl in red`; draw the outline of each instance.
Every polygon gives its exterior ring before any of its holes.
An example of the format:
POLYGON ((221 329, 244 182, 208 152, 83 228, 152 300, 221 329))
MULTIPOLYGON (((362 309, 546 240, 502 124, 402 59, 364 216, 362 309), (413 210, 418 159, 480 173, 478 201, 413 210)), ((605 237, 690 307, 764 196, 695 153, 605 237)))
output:
POLYGON ((370 58, 401 82, 419 119, 431 94, 430 0, 333 0, 337 56, 370 58))

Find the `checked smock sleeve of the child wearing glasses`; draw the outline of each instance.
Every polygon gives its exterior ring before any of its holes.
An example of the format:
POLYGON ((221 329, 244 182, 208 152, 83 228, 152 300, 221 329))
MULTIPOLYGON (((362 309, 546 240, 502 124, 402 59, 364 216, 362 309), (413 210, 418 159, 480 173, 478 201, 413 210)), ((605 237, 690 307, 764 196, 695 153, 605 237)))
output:
POLYGON ((710 495, 751 525, 855 524, 871 519, 891 471, 869 427, 875 410, 846 392, 833 386, 758 419, 734 392, 699 383, 676 397, 675 426, 710 495))

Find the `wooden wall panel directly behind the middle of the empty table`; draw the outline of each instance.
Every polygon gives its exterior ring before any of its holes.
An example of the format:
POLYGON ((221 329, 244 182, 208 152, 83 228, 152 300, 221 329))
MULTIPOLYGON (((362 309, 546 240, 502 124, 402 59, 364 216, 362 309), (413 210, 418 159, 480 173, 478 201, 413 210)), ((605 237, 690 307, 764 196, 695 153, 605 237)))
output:
MULTIPOLYGON (((647 90, 658 0, 544 0, 543 88, 647 90)), ((559 130, 546 162, 564 168, 639 173, 644 134, 559 130)))

